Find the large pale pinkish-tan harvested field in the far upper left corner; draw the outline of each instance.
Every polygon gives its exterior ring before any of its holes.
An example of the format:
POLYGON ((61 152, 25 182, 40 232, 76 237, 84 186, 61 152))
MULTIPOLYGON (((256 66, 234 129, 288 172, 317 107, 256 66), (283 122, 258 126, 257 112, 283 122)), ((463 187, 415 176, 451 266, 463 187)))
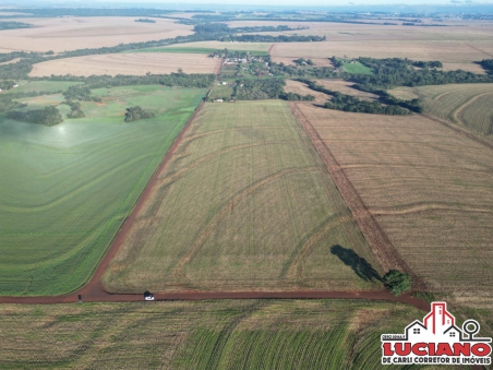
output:
POLYGON ((173 23, 173 20, 154 19, 156 23, 142 23, 134 22, 136 19, 127 16, 20 19, 19 21, 31 23, 35 27, 2 31, 0 49, 61 52, 193 34, 192 26, 173 23))

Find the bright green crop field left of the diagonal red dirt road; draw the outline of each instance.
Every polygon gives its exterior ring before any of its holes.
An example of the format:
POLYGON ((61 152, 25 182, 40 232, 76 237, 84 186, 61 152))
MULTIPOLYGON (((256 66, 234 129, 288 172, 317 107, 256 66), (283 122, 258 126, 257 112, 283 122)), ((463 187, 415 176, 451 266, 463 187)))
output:
MULTIPOLYGON (((205 91, 155 85, 94 94, 104 103, 83 102, 86 118, 50 128, 0 115, 2 295, 68 293, 89 278, 205 91), (156 117, 124 122, 135 105, 156 117)), ((61 95, 22 100, 46 106, 61 95)))

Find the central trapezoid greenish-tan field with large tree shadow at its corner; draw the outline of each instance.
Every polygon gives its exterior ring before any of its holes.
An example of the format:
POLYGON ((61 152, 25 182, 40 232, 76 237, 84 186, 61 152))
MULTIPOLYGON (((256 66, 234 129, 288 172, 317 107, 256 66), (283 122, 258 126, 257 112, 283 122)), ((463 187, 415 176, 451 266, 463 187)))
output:
POLYGON ((103 278, 110 291, 380 288, 382 273, 286 103, 208 104, 103 278))

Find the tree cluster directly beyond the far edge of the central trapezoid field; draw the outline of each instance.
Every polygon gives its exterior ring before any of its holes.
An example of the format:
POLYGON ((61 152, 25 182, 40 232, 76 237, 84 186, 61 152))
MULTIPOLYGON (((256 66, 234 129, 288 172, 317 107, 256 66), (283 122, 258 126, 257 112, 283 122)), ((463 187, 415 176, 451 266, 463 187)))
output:
POLYGON ((237 83, 233 95, 238 100, 277 99, 285 94, 285 85, 284 79, 246 80, 237 83))

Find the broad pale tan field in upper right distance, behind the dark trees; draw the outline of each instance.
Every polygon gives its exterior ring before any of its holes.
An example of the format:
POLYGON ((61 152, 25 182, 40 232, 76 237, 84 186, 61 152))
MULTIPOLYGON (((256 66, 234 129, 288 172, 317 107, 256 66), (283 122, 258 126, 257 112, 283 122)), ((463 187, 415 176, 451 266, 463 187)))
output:
MULTIPOLYGON (((233 23, 235 24, 235 23, 233 23)), ((275 23, 278 25, 281 23, 275 23)), ((413 60, 440 60, 445 70, 462 69, 483 72, 472 63, 492 58, 493 26, 468 24, 462 27, 409 27, 356 25, 338 23, 290 23, 291 27, 308 26, 282 34, 325 36, 322 43, 278 43, 270 49, 273 60, 286 62, 294 58, 409 58, 413 60)), ((277 33, 278 34, 278 33, 277 33)))

